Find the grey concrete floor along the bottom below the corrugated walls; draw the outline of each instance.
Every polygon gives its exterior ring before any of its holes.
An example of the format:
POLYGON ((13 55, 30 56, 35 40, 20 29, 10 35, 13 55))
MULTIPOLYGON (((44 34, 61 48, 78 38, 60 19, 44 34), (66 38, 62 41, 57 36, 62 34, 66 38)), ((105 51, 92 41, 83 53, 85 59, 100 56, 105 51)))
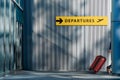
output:
POLYGON ((106 72, 93 74, 90 72, 17 71, 0 77, 0 80, 120 80, 120 76, 109 75, 106 72))

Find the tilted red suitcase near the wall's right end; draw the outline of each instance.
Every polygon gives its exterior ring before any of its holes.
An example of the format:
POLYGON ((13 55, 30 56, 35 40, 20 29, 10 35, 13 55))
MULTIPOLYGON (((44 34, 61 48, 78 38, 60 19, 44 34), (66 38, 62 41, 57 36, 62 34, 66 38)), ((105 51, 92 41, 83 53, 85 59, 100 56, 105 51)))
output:
POLYGON ((103 64, 105 63, 106 58, 98 55, 94 62, 92 63, 92 65, 90 66, 89 70, 93 70, 95 73, 97 73, 103 66, 103 64))

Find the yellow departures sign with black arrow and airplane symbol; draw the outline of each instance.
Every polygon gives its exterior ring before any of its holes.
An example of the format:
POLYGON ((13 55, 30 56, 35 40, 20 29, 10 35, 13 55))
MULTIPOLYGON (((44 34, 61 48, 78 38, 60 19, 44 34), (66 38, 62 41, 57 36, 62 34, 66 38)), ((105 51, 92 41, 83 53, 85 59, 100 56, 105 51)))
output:
POLYGON ((56 16, 56 26, 107 26, 107 16, 56 16))

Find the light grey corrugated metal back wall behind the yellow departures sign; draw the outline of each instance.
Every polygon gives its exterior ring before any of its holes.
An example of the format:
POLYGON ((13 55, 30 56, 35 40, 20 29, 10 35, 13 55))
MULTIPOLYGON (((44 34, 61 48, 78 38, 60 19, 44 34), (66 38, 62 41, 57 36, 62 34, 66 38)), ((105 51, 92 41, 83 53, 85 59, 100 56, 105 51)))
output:
MULTIPOLYGON (((57 27, 55 17, 108 16, 110 20, 109 0, 33 0, 33 3, 32 70, 84 71, 97 55, 108 57, 110 23, 107 27, 57 27)), ((28 44, 27 49, 31 46, 29 41, 28 44)))

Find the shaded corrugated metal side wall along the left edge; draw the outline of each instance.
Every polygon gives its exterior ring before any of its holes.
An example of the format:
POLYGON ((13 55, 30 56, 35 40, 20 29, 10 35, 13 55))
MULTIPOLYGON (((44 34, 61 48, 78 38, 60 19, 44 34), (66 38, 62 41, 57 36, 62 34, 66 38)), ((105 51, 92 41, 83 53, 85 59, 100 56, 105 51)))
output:
POLYGON ((18 17, 23 20, 23 15, 19 15, 20 11, 16 13, 16 10, 19 10, 17 4, 20 6, 19 3, 15 3, 13 0, 0 0, 0 75, 21 69, 21 63, 18 62, 21 62, 22 50, 18 47, 21 48, 19 38, 22 36, 18 27, 20 23, 23 24, 23 21, 18 20, 18 17))

